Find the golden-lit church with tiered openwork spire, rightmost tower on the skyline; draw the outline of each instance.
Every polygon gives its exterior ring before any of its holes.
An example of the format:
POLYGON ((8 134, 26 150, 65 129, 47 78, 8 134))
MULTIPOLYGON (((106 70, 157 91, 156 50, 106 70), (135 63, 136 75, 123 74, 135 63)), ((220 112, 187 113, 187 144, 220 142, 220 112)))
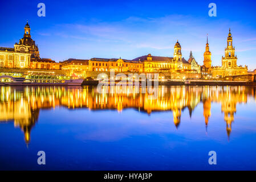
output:
POLYGON ((246 75, 247 66, 242 67, 237 65, 237 55, 235 55, 235 47, 233 47, 233 38, 229 28, 229 35, 227 36, 227 47, 225 48, 225 56, 222 56, 222 66, 213 67, 212 75, 214 78, 246 75))

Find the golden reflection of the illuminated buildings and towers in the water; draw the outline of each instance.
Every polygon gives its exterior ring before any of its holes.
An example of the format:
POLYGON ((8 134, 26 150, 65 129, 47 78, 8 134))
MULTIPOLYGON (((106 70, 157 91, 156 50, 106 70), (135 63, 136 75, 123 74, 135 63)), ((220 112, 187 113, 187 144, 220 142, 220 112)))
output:
POLYGON ((152 100, 148 94, 132 90, 123 93, 97 93, 96 88, 64 87, 2 87, 0 94, 0 121, 14 121, 15 127, 20 127, 25 134, 26 143, 30 142, 30 131, 39 117, 40 109, 50 109, 64 106, 68 109, 86 107, 90 110, 115 109, 122 111, 134 108, 151 114, 153 111, 172 111, 176 127, 181 123, 184 109, 192 116, 195 107, 202 102, 206 130, 211 117, 211 104, 221 104, 224 113, 227 135, 231 133, 237 103, 247 102, 247 96, 255 97, 255 89, 244 86, 160 86, 157 99, 152 100))

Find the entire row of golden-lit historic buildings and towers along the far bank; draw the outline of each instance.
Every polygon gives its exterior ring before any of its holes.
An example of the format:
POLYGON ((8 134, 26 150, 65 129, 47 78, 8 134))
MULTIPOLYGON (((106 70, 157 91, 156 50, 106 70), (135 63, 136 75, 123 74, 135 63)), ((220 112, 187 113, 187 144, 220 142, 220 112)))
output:
MULTIPOLYGON (((239 76, 247 74, 247 66, 237 65, 237 56, 233 47, 233 38, 229 31, 225 56, 222 56, 222 66, 212 67, 212 53, 210 52, 208 37, 204 52, 204 65, 199 65, 190 52, 189 59, 182 57, 181 44, 174 45, 173 57, 148 55, 127 59, 92 58, 90 60, 68 59, 56 63, 51 59, 40 58, 38 46, 31 38, 29 23, 25 25, 25 33, 14 48, 0 47, 0 68, 27 68, 38 69, 36 72, 65 72, 67 76, 87 77, 88 72, 137 72, 161 73, 172 79, 185 78, 221 78, 226 76, 239 76), (52 72, 52 71, 50 71, 52 72), (166 73, 167 72, 167 73, 166 73), (200 75, 201 74, 201 75, 200 75)), ((24 69, 22 69, 24 70, 24 69)), ((93 75, 93 74, 91 74, 93 75)))

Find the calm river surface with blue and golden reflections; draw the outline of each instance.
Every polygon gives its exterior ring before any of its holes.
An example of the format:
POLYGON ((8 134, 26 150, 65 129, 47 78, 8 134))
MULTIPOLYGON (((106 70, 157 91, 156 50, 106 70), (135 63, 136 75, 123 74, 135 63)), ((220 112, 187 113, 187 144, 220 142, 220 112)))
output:
POLYGON ((0 169, 255 170, 255 90, 159 86, 152 100, 91 86, 3 86, 0 169))

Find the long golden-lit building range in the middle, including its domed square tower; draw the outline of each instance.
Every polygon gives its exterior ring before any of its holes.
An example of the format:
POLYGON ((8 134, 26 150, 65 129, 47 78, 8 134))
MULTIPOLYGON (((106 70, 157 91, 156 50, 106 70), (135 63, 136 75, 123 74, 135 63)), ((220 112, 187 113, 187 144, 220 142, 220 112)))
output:
POLYGON ((102 59, 89 60, 89 71, 108 72, 172 72, 172 73, 200 73, 200 65, 194 57, 186 61, 182 57, 180 43, 175 44, 173 57, 145 56, 136 57, 133 60, 126 59, 102 59))

